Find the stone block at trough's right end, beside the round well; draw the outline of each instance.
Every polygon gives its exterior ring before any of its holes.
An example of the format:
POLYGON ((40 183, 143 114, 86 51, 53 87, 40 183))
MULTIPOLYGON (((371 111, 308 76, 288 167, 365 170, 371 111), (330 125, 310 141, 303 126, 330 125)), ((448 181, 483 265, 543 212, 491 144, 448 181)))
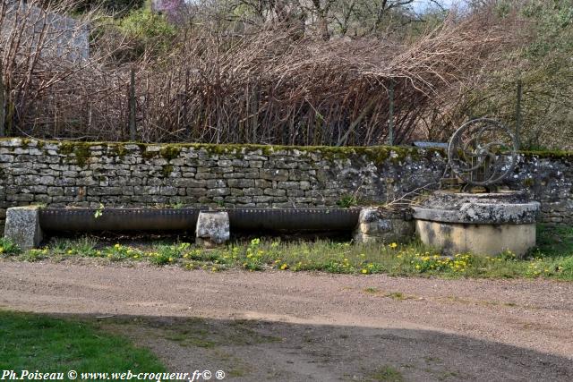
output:
POLYGON ((354 232, 355 242, 407 242, 414 234, 414 224, 406 211, 363 208, 354 232))

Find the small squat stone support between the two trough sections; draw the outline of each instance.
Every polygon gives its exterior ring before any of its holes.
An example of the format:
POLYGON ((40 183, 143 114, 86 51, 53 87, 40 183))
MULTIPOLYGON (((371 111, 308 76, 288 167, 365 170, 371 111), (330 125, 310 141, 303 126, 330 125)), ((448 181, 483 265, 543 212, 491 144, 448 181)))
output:
POLYGON ((195 237, 195 242, 206 248, 214 248, 228 242, 230 225, 227 212, 201 211, 197 219, 195 237))

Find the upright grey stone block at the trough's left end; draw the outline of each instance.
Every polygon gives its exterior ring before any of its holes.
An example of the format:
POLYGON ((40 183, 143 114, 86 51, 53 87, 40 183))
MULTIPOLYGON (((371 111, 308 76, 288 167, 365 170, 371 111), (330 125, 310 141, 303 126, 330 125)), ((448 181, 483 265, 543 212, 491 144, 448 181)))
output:
POLYGON ((21 250, 37 248, 43 238, 39 226, 39 208, 36 206, 8 208, 4 237, 17 244, 21 250))

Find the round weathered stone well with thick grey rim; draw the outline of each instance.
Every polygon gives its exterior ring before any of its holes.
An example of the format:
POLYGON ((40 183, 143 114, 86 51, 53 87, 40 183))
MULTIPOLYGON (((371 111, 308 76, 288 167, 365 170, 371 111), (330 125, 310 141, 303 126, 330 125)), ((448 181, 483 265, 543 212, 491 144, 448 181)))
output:
POLYGON ((446 254, 517 256, 535 247, 540 204, 523 192, 460 193, 437 191, 414 207, 415 231, 422 242, 446 254))

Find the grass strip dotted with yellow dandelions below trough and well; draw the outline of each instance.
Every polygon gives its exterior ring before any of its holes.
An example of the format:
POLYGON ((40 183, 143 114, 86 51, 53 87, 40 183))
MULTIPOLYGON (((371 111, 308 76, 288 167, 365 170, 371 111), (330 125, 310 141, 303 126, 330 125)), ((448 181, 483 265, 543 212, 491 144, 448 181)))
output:
POLYGON ((524 259, 504 252, 497 256, 460 253, 446 257, 420 242, 408 244, 353 244, 351 242, 281 242, 253 239, 205 250, 192 244, 104 245, 94 239, 56 241, 44 249, 18 253, 15 259, 95 257, 110 261, 149 261, 157 266, 221 271, 241 267, 249 271, 322 271, 340 274, 440 277, 544 277, 573 281, 573 227, 540 225, 538 248, 524 259))

